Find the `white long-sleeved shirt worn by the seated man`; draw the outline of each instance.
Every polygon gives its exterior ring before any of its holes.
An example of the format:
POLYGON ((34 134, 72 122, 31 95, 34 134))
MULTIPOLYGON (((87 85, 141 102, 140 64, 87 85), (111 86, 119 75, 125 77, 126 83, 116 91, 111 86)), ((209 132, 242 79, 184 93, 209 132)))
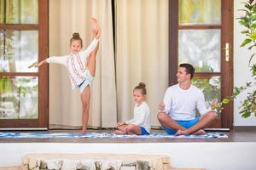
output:
POLYGON ((165 111, 176 121, 189 121, 195 119, 195 108, 201 115, 208 111, 205 97, 201 89, 191 85, 189 89, 183 90, 176 84, 167 88, 164 97, 165 111))

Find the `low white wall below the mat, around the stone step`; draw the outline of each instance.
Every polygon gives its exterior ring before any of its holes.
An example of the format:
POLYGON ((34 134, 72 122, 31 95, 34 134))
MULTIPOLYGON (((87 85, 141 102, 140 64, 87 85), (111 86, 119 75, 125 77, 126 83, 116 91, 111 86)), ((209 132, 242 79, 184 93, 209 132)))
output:
POLYGON ((0 144, 0 167, 21 165, 29 153, 113 153, 154 154, 170 157, 172 167, 205 167, 207 170, 255 169, 256 143, 126 143, 64 144, 9 143, 0 144))

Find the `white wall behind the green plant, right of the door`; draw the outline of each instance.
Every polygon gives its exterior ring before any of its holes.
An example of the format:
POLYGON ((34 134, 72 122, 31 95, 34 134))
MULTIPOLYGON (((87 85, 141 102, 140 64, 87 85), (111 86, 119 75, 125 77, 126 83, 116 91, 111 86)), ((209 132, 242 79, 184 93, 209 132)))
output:
MULTIPOLYGON (((248 68, 248 61, 253 53, 247 48, 240 48, 241 42, 245 39, 245 36, 240 33, 244 28, 236 20, 236 18, 244 14, 238 11, 238 9, 244 8, 244 4, 241 2, 245 1, 234 0, 234 87, 243 86, 246 82, 253 81, 252 74, 248 68)), ((255 61, 256 59, 253 60, 254 63, 255 61)), ((245 119, 239 114, 241 100, 245 98, 246 93, 243 93, 234 102, 234 126, 256 126, 256 116, 252 115, 245 119)))

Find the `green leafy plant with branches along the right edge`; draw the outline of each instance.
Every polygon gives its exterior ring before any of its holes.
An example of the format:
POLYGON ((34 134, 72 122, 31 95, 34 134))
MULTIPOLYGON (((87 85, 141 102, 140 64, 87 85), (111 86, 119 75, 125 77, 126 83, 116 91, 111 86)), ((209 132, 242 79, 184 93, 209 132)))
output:
MULTIPOLYGON (((256 0, 248 0, 247 3, 243 3, 245 9, 240 9, 245 12, 245 15, 238 18, 241 26, 245 27, 245 30, 241 31, 241 34, 246 36, 246 39, 241 42, 240 47, 247 47, 249 50, 253 50, 256 47, 256 0)), ((221 112, 223 105, 229 104, 231 100, 236 99, 236 96, 246 91, 247 89, 253 89, 252 92, 247 93, 247 98, 241 101, 240 114, 242 117, 247 118, 254 114, 256 116, 256 64, 252 63, 255 53, 250 56, 249 67, 252 72, 253 82, 247 82, 245 86, 236 87, 233 90, 233 94, 220 103, 215 103, 213 108, 218 112, 221 112)))

